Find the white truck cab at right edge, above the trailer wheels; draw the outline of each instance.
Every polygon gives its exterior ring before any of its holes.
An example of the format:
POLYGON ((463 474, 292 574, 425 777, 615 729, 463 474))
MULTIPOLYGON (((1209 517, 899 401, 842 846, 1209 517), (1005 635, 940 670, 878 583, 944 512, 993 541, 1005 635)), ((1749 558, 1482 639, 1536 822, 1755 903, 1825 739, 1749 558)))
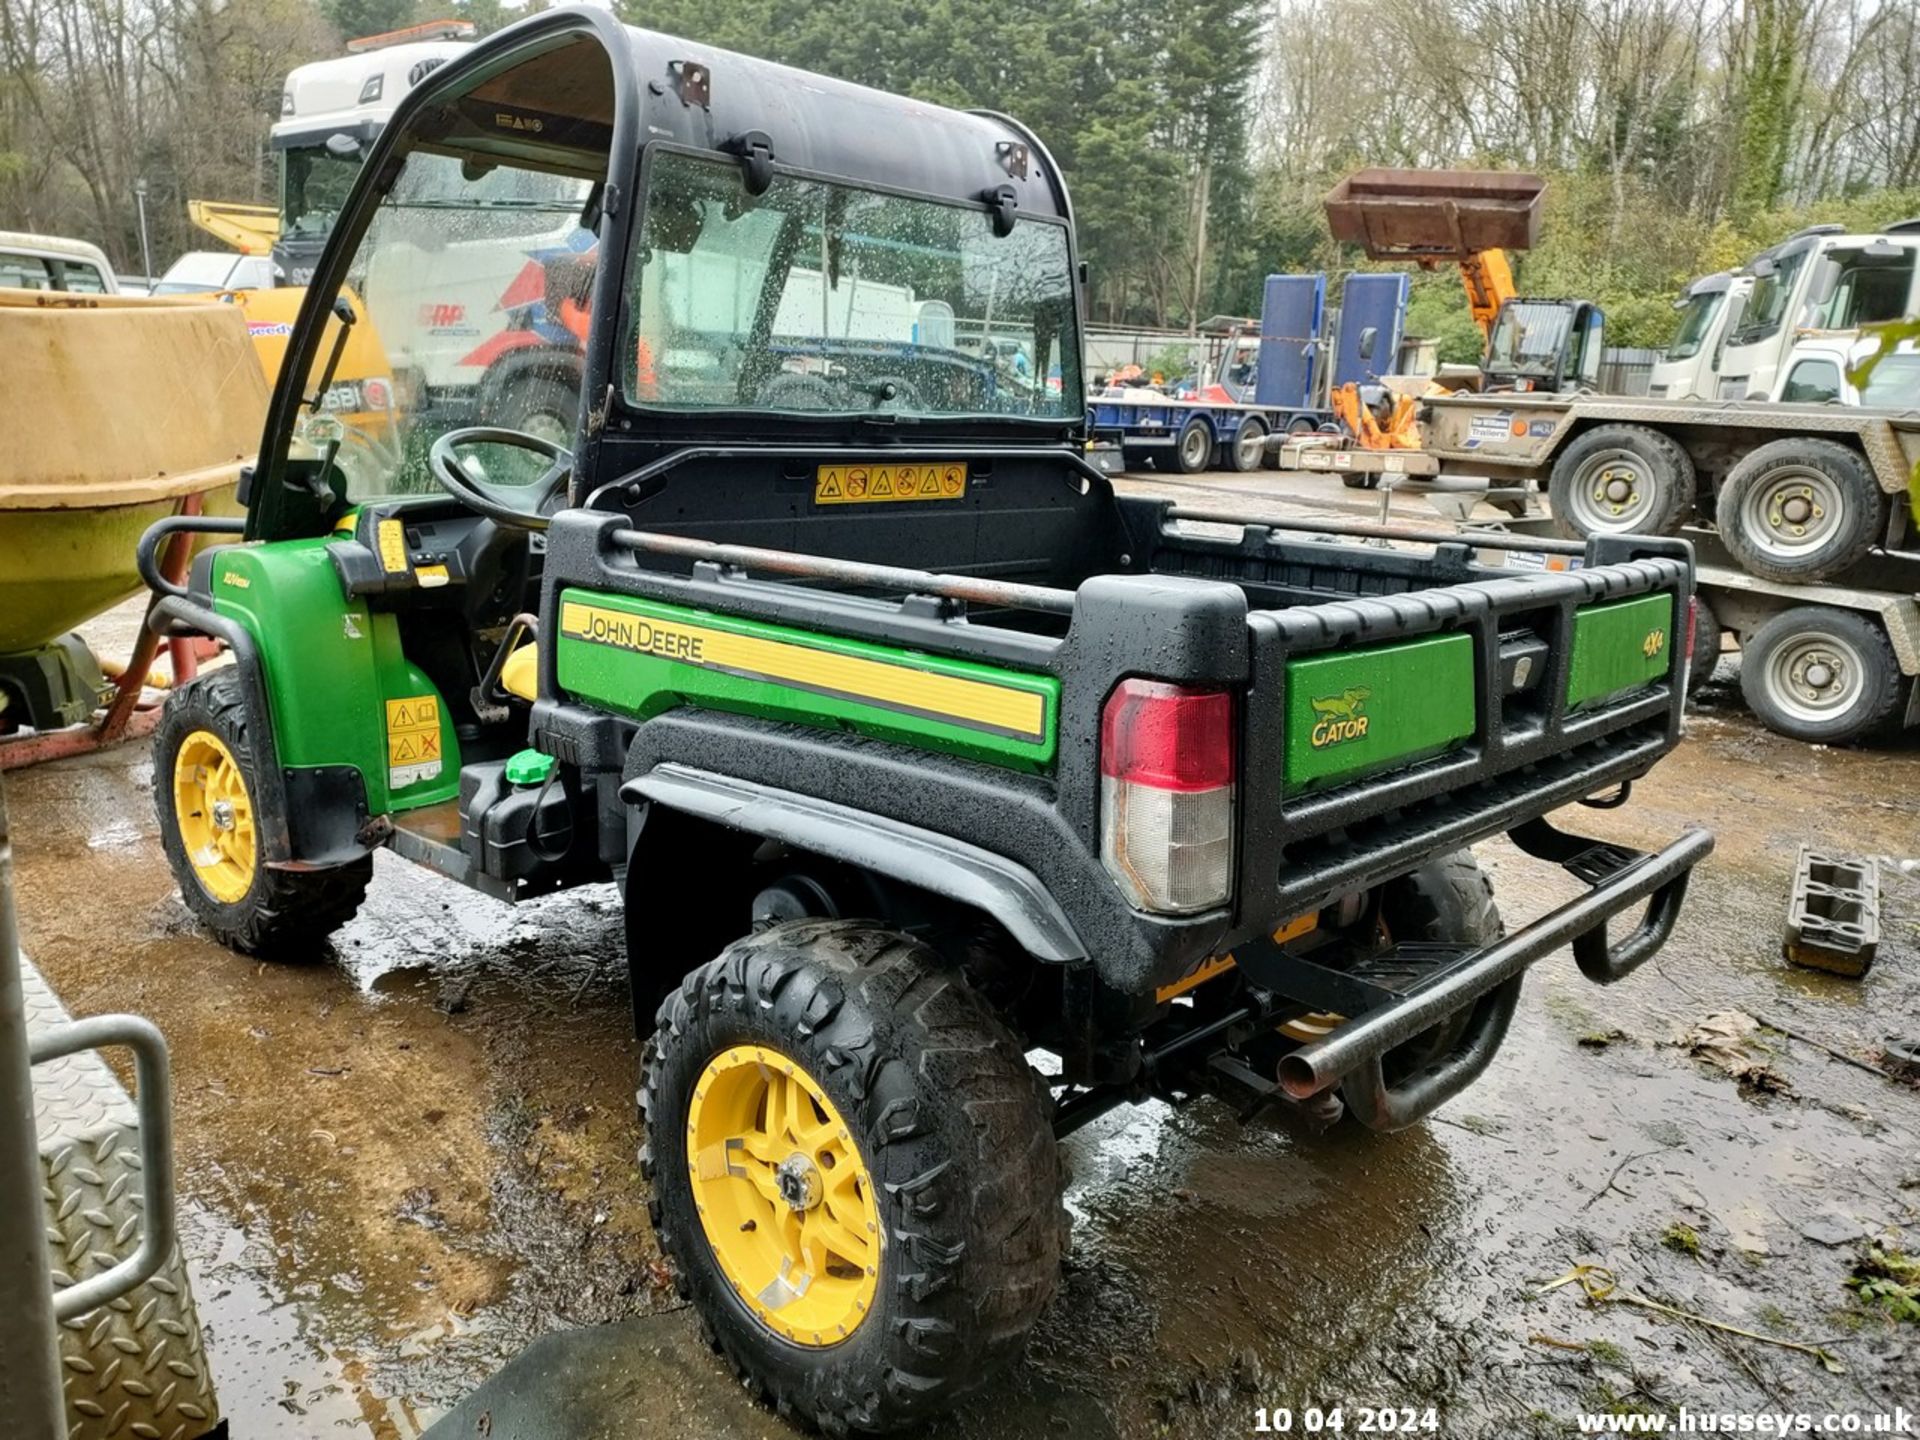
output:
POLYGON ((1920 221, 1876 234, 1816 225, 1747 263, 1753 294, 1728 332, 1716 399, 1766 399, 1807 330, 1853 330, 1920 309, 1920 221))

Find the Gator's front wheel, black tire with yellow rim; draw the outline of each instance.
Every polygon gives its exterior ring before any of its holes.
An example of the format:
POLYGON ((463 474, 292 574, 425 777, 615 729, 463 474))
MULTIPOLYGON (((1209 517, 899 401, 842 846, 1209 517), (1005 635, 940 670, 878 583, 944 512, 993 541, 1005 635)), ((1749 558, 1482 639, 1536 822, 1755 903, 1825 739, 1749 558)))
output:
POLYGON ((154 730, 154 808, 180 899, 234 950, 317 958, 367 899, 372 856, 332 870, 267 868, 259 822, 273 816, 255 776, 246 689, 232 666, 167 697, 154 730))

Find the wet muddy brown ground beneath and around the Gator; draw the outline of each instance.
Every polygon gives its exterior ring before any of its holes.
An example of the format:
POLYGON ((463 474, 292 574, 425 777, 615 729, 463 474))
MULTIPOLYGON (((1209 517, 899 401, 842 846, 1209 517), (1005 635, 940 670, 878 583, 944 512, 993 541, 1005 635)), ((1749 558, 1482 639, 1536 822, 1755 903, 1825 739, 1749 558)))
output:
MULTIPOLYGON (((1885 876, 1864 983, 1788 970, 1795 849, 1920 852, 1920 739, 1809 749, 1741 708, 1728 657, 1624 810, 1718 833, 1667 952, 1596 989, 1538 968, 1486 1079, 1392 1137, 1240 1127, 1215 1102, 1071 1137, 1075 1256, 1025 1361, 954 1436, 1219 1436, 1256 1405, 1436 1405, 1442 1434, 1561 1434, 1584 1409, 1889 1411, 1920 1329, 1845 1286, 1920 1250, 1920 1091, 1778 1029, 1745 1081, 1672 1041, 1741 1010, 1855 1058, 1920 1029, 1920 876, 1885 876), (1690 1240, 1688 1236, 1693 1236, 1690 1240), (1695 1244, 1697 1240, 1697 1244, 1695 1244), (1574 1263, 1642 1306, 1542 1294, 1574 1263)), ((380 854, 317 966, 198 935, 144 747, 8 776, 29 954, 77 1014, 175 1054, 186 1250, 236 1436, 419 1434, 532 1338, 628 1321, 634 1434, 780 1436, 701 1346, 647 1231, 616 897, 509 910, 380 854)), ((1501 908, 1574 893, 1482 847, 1501 908)))

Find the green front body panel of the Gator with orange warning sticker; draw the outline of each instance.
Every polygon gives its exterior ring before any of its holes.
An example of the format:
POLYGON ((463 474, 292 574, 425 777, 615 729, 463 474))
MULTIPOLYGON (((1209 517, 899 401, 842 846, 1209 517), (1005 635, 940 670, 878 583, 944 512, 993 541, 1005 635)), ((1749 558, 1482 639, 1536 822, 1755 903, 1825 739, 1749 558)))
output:
POLYGON ((399 622, 342 593, 326 543, 228 545, 213 557, 213 609, 246 626, 259 645, 280 764, 353 766, 367 781, 372 814, 459 795, 453 716, 401 651, 399 622), (419 707, 405 714, 390 707, 419 697, 430 697, 438 712, 424 724, 419 707), (399 720, 392 730, 390 718, 399 720), (430 774, 436 762, 440 770, 430 774))

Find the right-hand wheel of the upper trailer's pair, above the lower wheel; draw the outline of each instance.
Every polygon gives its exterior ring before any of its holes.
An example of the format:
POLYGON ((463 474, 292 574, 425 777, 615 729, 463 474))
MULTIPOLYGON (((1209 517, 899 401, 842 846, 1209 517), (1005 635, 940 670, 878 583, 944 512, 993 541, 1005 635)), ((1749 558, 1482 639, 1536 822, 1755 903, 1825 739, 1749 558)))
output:
POLYGON ((1716 515, 1743 568, 1797 584, 1864 557, 1885 526, 1887 497, 1859 451, 1793 436, 1761 445, 1728 472, 1716 515))

